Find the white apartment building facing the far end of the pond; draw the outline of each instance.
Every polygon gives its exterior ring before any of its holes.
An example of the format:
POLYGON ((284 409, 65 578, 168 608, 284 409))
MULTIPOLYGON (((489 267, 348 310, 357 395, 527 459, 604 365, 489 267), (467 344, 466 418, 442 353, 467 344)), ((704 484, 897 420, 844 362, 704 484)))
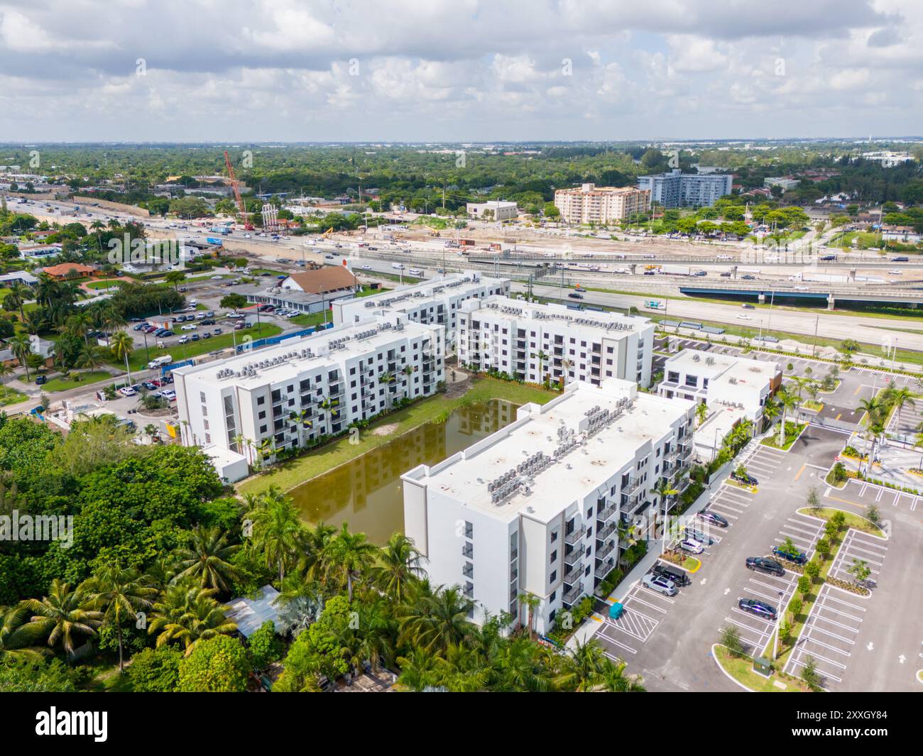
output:
POLYGON ((463 303, 458 322, 460 365, 530 383, 651 382, 654 326, 648 318, 490 296, 463 303))

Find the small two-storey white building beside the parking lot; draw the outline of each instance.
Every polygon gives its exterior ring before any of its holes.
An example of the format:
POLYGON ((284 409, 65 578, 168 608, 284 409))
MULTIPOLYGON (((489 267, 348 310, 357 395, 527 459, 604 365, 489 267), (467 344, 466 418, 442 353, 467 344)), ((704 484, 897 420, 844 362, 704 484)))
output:
POLYGON ((781 385, 782 366, 776 362, 684 349, 667 358, 657 392, 701 402, 713 410, 736 407, 756 422, 766 400, 781 385))

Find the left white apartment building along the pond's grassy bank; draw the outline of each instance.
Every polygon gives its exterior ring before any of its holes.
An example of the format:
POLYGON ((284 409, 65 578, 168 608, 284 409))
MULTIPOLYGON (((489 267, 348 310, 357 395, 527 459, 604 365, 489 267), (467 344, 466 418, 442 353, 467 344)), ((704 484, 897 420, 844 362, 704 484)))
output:
POLYGON ((305 446, 403 397, 434 393, 444 349, 440 327, 390 315, 177 367, 183 443, 240 454, 305 446))

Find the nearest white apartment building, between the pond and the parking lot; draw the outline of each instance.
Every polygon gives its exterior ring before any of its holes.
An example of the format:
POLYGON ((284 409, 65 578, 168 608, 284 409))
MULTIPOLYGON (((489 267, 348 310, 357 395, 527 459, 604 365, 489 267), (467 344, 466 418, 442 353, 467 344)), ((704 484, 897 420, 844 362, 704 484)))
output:
POLYGON ((468 449, 403 474, 404 531, 429 580, 459 585, 479 607, 475 621, 509 612, 525 624, 519 596, 533 594, 536 630, 547 632, 617 566, 628 546, 619 525, 653 535, 651 515, 672 507, 675 495, 661 501, 653 489, 662 478, 685 486, 694 407, 625 380, 572 383, 468 449))

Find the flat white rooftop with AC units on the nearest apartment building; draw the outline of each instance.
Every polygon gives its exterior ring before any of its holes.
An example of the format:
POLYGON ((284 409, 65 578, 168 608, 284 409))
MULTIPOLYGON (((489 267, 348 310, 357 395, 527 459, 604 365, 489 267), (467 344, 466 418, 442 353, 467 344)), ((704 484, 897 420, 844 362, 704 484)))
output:
POLYGON ((501 521, 522 513, 549 522, 652 448, 692 406, 617 378, 600 387, 575 382, 544 406, 524 405, 515 422, 467 450, 403 477, 501 521))

